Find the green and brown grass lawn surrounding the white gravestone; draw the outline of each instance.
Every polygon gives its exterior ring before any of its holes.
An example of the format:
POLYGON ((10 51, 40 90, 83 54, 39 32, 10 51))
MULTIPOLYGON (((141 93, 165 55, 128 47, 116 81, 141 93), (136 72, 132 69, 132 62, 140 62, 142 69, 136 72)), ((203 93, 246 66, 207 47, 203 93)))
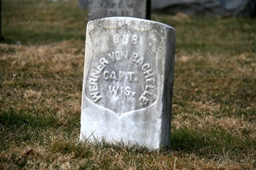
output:
POLYGON ((176 28, 170 148, 78 143, 86 11, 2 0, 0 169, 256 169, 256 20, 152 15, 176 28))

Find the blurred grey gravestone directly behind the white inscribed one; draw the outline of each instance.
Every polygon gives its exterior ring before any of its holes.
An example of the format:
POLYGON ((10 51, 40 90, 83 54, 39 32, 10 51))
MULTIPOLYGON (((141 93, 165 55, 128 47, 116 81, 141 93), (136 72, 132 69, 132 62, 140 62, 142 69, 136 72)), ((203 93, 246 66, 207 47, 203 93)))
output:
POLYGON ((89 0, 89 20, 106 17, 150 19, 151 0, 89 0))

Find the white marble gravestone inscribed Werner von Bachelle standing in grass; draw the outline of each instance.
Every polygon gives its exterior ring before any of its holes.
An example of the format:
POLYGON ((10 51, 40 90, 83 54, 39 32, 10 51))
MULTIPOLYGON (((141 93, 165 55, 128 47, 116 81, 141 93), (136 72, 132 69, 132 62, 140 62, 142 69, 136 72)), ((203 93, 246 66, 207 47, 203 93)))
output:
POLYGON ((167 147, 175 29, 138 18, 87 25, 80 141, 167 147))

